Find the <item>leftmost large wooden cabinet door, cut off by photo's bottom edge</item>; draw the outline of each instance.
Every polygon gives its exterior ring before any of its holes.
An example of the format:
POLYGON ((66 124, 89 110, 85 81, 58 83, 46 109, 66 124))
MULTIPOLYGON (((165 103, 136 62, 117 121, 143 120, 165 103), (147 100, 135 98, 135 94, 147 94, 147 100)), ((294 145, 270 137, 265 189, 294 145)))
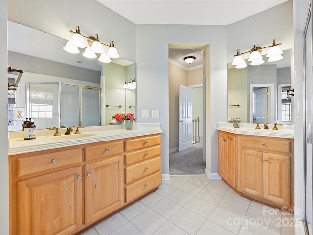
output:
POLYGON ((82 227, 82 168, 18 182, 18 234, 66 235, 82 227))

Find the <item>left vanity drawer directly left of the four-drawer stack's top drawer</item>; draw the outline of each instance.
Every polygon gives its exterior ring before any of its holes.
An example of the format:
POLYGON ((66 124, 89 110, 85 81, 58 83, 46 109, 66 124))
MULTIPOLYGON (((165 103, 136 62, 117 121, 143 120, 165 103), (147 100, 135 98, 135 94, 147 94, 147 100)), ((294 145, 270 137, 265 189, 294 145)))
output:
POLYGON ((106 158, 123 153, 123 141, 102 142, 93 146, 85 147, 85 161, 106 158))

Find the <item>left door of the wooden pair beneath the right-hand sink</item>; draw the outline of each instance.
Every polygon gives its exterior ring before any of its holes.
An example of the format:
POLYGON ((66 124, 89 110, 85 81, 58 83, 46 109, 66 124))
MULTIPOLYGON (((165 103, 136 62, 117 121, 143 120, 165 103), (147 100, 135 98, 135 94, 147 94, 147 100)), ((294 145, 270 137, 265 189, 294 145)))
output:
POLYGON ((237 161, 237 190, 255 196, 263 196, 263 153, 241 149, 237 161))

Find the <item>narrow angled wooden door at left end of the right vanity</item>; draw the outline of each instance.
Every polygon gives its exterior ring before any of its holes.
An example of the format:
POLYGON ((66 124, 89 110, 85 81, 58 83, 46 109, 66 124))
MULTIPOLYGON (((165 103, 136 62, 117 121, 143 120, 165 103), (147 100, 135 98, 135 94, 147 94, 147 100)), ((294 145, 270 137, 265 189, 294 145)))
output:
POLYGON ((236 136, 231 133, 218 134, 218 173, 236 188, 236 136))

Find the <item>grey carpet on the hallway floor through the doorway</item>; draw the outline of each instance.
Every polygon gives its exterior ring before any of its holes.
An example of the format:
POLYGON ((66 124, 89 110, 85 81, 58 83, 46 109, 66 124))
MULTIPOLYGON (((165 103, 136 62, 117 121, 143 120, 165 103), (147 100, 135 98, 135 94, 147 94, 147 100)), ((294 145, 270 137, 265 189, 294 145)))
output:
POLYGON ((170 154, 170 175, 201 174, 205 174, 203 142, 193 144, 185 151, 170 154))

